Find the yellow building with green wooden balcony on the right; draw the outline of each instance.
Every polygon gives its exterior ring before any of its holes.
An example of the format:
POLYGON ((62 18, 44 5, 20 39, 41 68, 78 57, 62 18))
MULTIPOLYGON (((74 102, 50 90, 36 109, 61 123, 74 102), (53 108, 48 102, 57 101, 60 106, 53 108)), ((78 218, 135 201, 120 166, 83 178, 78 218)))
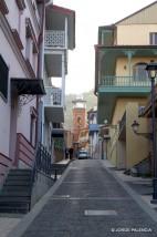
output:
POLYGON ((107 157, 119 168, 130 168, 149 155, 149 141, 136 136, 132 123, 138 120, 144 132, 149 126, 145 118, 138 117, 138 112, 150 92, 145 68, 156 61, 156 9, 157 2, 154 2, 115 24, 98 28, 95 45, 97 117, 100 124, 108 123, 107 157))

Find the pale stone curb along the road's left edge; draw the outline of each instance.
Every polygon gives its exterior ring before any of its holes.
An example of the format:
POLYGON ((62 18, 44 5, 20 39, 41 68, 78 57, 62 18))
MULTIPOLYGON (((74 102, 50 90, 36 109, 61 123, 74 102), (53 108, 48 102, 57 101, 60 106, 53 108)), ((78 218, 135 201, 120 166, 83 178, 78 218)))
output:
POLYGON ((69 174, 70 168, 71 168, 71 164, 64 171, 62 176, 55 182, 55 184, 50 188, 50 190, 34 205, 32 210, 21 219, 21 221, 11 230, 11 233, 9 233, 7 237, 21 237, 25 233, 28 227, 32 224, 34 218, 40 214, 40 212, 42 210, 44 205, 48 203, 48 200, 51 198, 51 196, 60 187, 60 185, 69 174))

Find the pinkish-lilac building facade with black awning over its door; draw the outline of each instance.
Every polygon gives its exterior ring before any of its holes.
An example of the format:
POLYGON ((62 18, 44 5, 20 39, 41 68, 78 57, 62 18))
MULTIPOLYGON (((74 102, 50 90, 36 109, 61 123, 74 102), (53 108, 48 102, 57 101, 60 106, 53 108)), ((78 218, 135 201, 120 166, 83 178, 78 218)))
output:
POLYGON ((31 166, 36 143, 40 1, 0 2, 0 158, 1 177, 11 166, 31 166))

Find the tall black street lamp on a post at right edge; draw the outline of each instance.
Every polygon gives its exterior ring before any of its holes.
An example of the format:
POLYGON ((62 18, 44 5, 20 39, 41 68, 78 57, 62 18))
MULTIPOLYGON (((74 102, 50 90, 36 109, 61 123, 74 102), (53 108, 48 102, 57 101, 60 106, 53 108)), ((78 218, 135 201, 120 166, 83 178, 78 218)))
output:
POLYGON ((157 76, 157 63, 150 62, 146 66, 148 78, 151 82, 151 130, 153 130, 153 157, 154 157, 154 178, 153 178, 153 200, 157 203, 157 150, 156 150, 156 118, 155 118, 155 79, 157 76))

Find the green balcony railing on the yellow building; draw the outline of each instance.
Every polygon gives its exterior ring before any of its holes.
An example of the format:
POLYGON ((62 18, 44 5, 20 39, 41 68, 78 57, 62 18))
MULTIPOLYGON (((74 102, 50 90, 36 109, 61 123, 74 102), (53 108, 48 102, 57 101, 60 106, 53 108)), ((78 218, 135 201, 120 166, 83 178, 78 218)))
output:
POLYGON ((112 76, 106 75, 102 78, 101 86, 150 86, 150 80, 148 78, 135 78, 135 76, 112 76))

